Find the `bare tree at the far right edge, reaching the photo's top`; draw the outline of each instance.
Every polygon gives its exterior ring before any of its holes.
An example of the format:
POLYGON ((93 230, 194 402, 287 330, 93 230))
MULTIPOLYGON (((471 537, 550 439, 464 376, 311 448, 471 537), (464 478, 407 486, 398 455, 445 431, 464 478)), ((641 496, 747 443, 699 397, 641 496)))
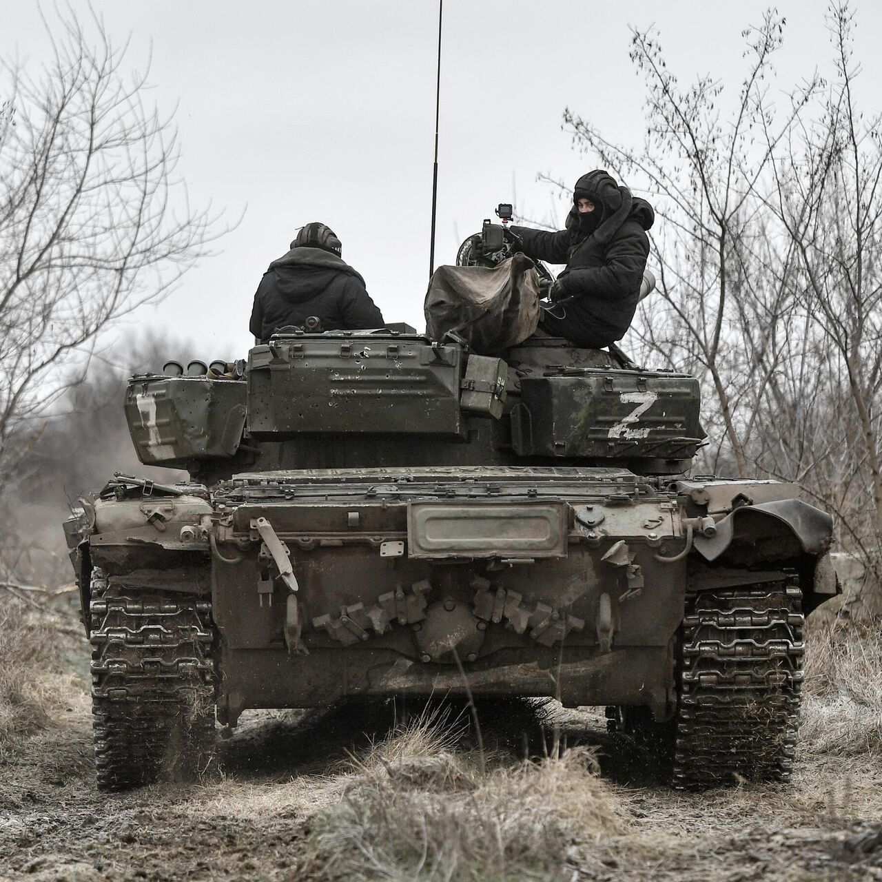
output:
MULTIPOLYGON (((775 152, 766 205, 799 258, 796 294, 821 358, 832 368, 823 398, 830 417, 813 445, 812 490, 837 515, 843 542, 882 585, 882 115, 856 106, 860 73, 854 12, 828 14, 835 76, 798 144, 775 152), (819 448, 819 449, 818 449, 819 448), (818 455, 820 454, 820 455, 818 455)), ((823 363, 823 362, 821 362, 823 363)), ((882 590, 866 602, 882 613, 882 590)))

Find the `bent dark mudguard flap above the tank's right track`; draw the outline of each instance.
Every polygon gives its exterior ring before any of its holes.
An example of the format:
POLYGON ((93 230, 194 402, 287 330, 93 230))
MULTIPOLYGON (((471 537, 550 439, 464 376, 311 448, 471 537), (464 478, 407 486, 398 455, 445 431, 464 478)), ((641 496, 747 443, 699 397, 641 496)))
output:
MULTIPOLYGON (((742 505, 716 523, 711 536, 696 535, 693 545, 707 561, 721 557, 736 540, 757 540, 767 534, 769 520, 783 523, 798 542, 798 552, 822 557, 830 549, 833 538, 833 518, 801 499, 778 499, 759 505, 742 505)), ((781 549, 781 557, 791 557, 781 549)))

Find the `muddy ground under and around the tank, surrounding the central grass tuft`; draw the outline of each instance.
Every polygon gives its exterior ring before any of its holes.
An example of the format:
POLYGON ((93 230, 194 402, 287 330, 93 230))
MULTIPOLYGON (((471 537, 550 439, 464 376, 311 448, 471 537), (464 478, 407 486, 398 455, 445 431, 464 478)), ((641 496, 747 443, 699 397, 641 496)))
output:
MULTIPOLYGON (((336 823, 334 806, 349 798, 351 757, 396 737, 390 707, 255 712, 221 744, 220 777, 99 795, 81 649, 72 653, 76 674, 52 721, 0 765, 0 878, 281 880, 310 878, 310 866, 318 867, 317 878, 363 878, 363 869, 333 864, 326 855, 324 863, 304 865, 303 854, 313 848, 316 818, 324 818, 326 833, 328 818, 336 823)), ((882 879, 882 751, 878 744, 856 745, 853 725, 848 735, 842 729, 848 748, 837 750, 836 728, 847 725, 850 712, 830 701, 807 710, 811 744, 801 744, 788 786, 693 795, 665 789, 632 751, 609 744, 600 714, 552 709, 567 744, 593 745, 600 756, 599 780, 587 781, 602 802, 596 835, 568 839, 564 828, 564 839, 553 840, 560 853, 544 870, 512 859, 499 878, 882 879), (818 727, 829 744, 821 744, 818 727)), ((525 713, 513 728, 534 725, 533 711, 525 713)), ((484 727, 497 766, 518 766, 510 729, 498 719, 484 727)), ((471 762, 473 736, 454 741, 453 754, 471 762)), ((529 786, 529 779, 519 780, 529 786)), ((536 830, 548 824, 540 818, 536 830)), ((472 879, 486 872, 465 860, 456 866, 423 862, 415 870, 402 858, 397 869, 377 865, 370 878, 472 879)))

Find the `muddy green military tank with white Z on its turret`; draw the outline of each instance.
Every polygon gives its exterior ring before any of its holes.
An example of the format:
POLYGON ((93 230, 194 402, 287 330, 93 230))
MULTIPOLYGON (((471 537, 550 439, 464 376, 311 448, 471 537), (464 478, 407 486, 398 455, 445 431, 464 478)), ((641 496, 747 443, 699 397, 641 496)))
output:
POLYGON ((198 772, 249 708, 431 693, 607 706, 679 788, 788 778, 831 519, 686 476, 694 377, 408 325, 226 367, 132 377, 140 461, 189 480, 117 474, 65 525, 100 789, 198 772))

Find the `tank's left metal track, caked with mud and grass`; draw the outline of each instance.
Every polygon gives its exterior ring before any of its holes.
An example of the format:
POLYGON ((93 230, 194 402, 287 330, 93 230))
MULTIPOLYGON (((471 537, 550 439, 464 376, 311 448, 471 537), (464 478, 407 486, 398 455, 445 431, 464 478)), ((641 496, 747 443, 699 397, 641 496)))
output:
POLYGON ((98 789, 204 771, 214 753, 211 603, 110 594, 90 605, 98 789))

